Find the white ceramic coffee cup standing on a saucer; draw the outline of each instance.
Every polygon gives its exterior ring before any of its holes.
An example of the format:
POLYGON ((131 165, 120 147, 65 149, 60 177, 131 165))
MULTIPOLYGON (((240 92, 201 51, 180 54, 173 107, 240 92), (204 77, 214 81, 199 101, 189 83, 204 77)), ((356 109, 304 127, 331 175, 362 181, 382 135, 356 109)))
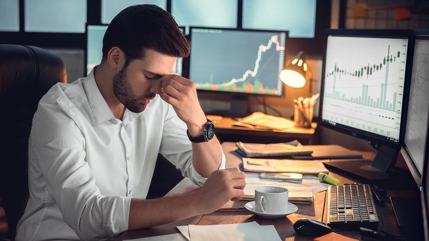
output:
POLYGON ((289 190, 284 187, 255 188, 255 211, 265 214, 287 213, 289 190))

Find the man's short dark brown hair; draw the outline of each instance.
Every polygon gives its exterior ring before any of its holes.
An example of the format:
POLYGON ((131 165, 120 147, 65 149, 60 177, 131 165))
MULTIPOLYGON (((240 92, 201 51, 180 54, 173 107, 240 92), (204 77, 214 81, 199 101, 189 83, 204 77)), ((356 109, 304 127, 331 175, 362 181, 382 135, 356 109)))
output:
POLYGON ((118 13, 103 37, 103 60, 112 47, 119 47, 127 60, 144 58, 145 48, 172 57, 187 57, 190 43, 173 16, 156 5, 129 6, 118 13))

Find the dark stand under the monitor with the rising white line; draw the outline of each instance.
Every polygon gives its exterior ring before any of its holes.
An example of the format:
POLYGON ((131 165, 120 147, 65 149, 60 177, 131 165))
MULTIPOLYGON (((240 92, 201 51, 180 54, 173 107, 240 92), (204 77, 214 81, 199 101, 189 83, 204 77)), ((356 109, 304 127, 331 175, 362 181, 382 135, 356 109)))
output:
POLYGON ((230 108, 227 110, 213 110, 206 114, 220 115, 224 117, 246 117, 249 114, 248 96, 233 94, 230 99, 230 108))

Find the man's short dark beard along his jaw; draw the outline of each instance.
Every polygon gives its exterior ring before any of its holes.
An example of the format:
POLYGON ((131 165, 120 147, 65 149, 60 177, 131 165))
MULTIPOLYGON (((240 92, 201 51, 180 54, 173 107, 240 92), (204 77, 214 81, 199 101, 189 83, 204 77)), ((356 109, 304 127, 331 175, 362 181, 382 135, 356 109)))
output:
POLYGON ((113 76, 113 93, 115 93, 116 98, 118 98, 129 111, 140 113, 145 110, 146 104, 139 105, 138 100, 142 98, 154 98, 155 93, 137 98, 136 93, 134 93, 131 87, 130 80, 127 77, 126 70, 127 66, 124 66, 121 71, 113 76))

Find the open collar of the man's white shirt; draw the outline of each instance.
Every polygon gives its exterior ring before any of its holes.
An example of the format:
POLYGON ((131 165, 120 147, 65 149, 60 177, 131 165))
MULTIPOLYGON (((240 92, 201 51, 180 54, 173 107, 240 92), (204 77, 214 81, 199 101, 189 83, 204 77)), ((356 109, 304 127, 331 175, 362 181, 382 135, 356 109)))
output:
MULTIPOLYGON (((98 66, 98 65, 97 65, 98 66)), ((85 90, 85 95, 87 96, 89 106, 91 108, 92 115, 94 116, 94 121, 97 126, 109 121, 111 119, 117 120, 113 116, 112 111, 107 105, 106 100, 103 95, 101 95, 100 89, 95 82, 94 71, 97 68, 95 66, 89 75, 83 81, 83 87, 85 90)), ((123 121, 117 120, 117 123, 124 122, 124 124, 131 123, 135 118, 139 117, 140 113, 133 113, 128 109, 125 109, 123 121)))

